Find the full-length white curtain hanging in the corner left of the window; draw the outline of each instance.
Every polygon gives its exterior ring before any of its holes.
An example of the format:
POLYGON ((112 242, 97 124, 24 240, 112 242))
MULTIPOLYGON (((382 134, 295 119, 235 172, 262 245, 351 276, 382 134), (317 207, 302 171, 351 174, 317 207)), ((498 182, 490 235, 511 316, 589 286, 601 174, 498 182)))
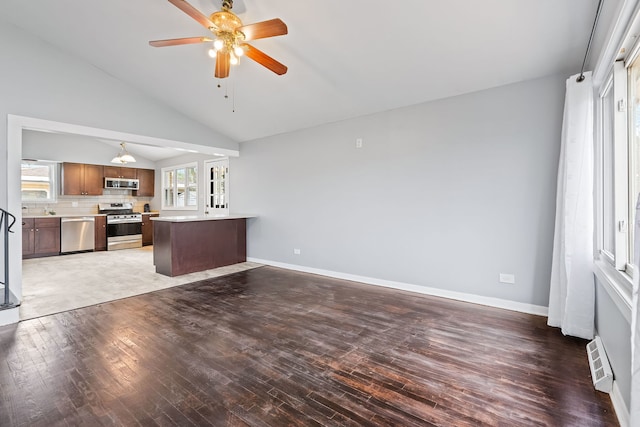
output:
POLYGON ((550 326, 591 339, 593 276, 593 86, 591 73, 567 80, 553 238, 550 326))

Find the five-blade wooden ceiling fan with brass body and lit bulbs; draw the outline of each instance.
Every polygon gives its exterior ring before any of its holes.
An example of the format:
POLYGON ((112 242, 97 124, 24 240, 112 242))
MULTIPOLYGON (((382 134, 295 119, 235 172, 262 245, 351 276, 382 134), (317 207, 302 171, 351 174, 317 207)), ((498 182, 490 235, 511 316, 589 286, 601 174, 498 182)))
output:
POLYGON ((231 65, 237 64, 239 57, 243 55, 278 75, 287 72, 286 65, 246 43, 252 40, 287 34, 287 26, 280 19, 276 18, 243 25, 240 18, 231 12, 233 0, 222 0, 222 10, 212 13, 209 17, 191 6, 186 0, 169 0, 169 3, 198 21, 200 25, 211 31, 214 37, 154 40, 149 42, 151 46, 165 47, 213 42, 213 48, 209 51, 209 55, 216 58, 215 76, 220 79, 229 77, 231 65))

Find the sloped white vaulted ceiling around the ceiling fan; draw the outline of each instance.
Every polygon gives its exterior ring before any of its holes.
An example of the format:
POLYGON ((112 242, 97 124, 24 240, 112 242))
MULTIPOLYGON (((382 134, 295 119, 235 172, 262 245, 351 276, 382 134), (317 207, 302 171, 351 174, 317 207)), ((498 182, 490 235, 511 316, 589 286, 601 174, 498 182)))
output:
MULTIPOLYGON (((190 3, 208 15, 221 1, 190 3)), ((166 0, 2 0, 0 16, 242 142, 577 73, 598 1, 234 3, 244 23, 279 17, 288 25, 286 36, 252 42, 287 74, 244 58, 217 88, 208 46, 148 45, 210 34, 166 0)))

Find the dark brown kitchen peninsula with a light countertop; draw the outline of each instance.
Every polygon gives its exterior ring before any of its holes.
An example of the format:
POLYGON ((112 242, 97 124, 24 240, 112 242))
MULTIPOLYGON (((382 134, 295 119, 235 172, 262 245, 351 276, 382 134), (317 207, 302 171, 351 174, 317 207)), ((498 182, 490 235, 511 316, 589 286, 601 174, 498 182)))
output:
POLYGON ((156 272, 173 277, 245 262, 246 220, 253 217, 231 214, 151 218, 156 272))

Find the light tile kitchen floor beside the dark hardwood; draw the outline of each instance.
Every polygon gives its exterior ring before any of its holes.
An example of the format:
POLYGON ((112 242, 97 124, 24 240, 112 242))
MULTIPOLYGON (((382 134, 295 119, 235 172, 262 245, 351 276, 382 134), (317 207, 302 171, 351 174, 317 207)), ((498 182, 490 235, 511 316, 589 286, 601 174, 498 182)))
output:
POLYGON ((260 267, 244 262, 177 277, 155 272, 153 246, 22 261, 20 320, 260 267))

